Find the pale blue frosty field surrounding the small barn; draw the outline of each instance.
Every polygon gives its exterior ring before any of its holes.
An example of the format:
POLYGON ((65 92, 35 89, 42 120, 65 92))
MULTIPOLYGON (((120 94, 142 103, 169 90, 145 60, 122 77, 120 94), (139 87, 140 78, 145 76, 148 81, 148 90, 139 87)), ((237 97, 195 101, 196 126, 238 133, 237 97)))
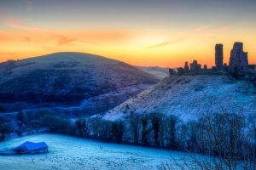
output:
POLYGON ((15 147, 25 141, 49 145, 49 153, 30 156, 0 156, 1 170, 154 170, 171 157, 183 158, 181 152, 144 148, 125 144, 107 144, 57 134, 38 134, 0 143, 0 150, 15 147))

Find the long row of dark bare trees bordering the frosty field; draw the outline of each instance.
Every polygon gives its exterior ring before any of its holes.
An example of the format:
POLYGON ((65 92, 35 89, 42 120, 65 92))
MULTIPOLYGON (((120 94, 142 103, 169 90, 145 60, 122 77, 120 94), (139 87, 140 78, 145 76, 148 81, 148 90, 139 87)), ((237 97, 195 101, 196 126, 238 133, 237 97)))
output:
MULTIPOLYGON (((178 116, 153 112, 133 113, 118 121, 104 120, 101 116, 71 121, 53 113, 29 116, 20 111, 16 122, 16 133, 27 128, 48 127, 51 133, 201 153, 217 157, 218 161, 213 161, 215 167, 226 166, 209 169, 236 169, 241 161, 247 162, 247 167, 256 165, 256 117, 253 115, 223 111, 201 114, 197 120, 183 122, 178 116)), ((1 118, 1 139, 11 131, 10 122, 1 118)))

